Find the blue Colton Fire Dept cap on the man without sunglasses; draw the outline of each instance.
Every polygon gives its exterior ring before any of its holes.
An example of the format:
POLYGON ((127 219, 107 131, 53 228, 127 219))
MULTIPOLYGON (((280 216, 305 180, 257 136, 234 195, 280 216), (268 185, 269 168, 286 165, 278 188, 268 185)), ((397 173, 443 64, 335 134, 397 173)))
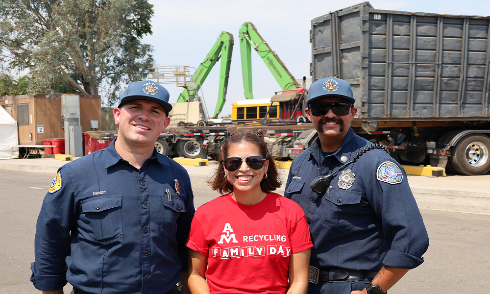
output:
POLYGON ((132 82, 124 90, 119 98, 118 108, 121 104, 131 100, 150 100, 156 102, 167 111, 167 115, 172 110, 172 104, 169 103, 170 94, 162 85, 153 81, 132 82))

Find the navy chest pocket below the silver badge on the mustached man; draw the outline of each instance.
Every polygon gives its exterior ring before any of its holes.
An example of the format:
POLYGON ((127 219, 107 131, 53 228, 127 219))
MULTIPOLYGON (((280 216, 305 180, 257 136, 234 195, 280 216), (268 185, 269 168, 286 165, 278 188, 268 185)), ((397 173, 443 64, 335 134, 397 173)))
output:
POLYGON ((328 205, 328 215, 322 218, 322 225, 334 231, 344 231, 358 226, 362 193, 330 188, 324 197, 328 205))

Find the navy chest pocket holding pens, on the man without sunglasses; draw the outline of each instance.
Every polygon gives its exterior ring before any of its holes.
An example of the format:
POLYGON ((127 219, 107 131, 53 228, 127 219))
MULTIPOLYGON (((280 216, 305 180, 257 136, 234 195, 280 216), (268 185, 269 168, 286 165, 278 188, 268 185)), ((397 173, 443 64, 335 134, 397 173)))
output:
POLYGON ((175 238, 175 233, 177 232, 176 221, 181 213, 186 212, 184 199, 171 192, 170 198, 168 195, 162 196, 162 203, 164 212, 161 232, 169 238, 175 238))

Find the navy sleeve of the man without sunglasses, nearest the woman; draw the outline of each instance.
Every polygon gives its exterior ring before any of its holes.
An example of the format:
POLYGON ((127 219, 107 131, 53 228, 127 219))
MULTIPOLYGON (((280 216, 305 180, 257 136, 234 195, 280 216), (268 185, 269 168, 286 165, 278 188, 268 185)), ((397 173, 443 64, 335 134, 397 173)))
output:
POLYGON ((175 235, 175 239, 177 241, 177 249, 179 260, 181 263, 180 270, 187 270, 189 255, 187 251, 186 240, 189 236, 189 230, 191 227, 192 219, 194 218, 194 213, 196 209, 194 208, 194 194, 192 192, 191 187, 191 178, 189 174, 187 174, 187 185, 186 185, 186 212, 182 213, 182 215, 177 220, 177 233, 175 235))

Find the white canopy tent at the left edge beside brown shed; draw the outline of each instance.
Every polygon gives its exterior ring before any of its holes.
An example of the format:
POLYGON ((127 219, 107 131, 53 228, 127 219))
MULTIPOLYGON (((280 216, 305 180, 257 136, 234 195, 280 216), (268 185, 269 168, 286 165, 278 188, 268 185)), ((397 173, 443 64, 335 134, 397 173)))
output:
POLYGON ((17 154, 17 150, 12 150, 16 145, 19 145, 17 121, 0 106, 0 159, 10 158, 12 151, 17 154))

